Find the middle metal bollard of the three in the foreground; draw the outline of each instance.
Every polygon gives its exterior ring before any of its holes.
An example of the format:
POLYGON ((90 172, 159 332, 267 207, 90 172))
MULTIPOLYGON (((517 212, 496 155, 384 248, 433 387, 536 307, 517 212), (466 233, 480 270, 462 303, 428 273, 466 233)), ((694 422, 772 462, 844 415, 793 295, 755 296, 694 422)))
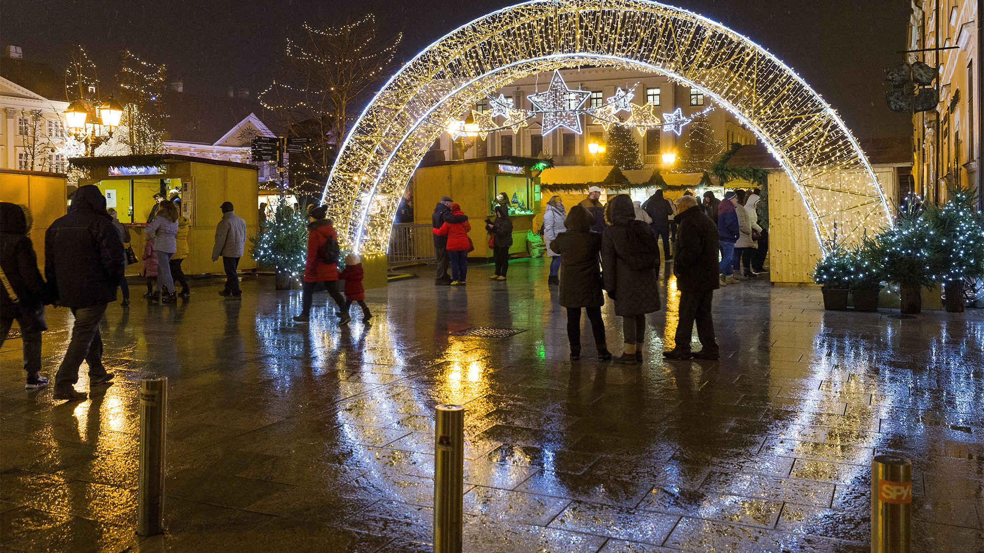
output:
POLYGON ((434 553, 461 553, 464 407, 434 408, 434 553))

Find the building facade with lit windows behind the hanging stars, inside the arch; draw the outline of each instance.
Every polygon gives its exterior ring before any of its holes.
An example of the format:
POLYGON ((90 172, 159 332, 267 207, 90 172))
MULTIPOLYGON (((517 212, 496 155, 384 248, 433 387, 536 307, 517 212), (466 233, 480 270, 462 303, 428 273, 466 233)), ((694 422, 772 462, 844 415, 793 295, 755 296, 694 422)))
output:
MULTIPOLYGON (((584 106, 600 105, 606 98, 615 95, 617 89, 632 89, 632 102, 644 105, 652 102, 655 113, 662 119, 663 113, 672 113, 680 108, 684 117, 691 117, 711 106, 711 99, 697 89, 677 84, 664 76, 643 71, 625 70, 612 67, 591 67, 580 69, 563 69, 561 76, 568 88, 590 91, 590 97, 584 106)), ((503 94, 512 105, 531 109, 528 95, 543 92, 550 84, 552 73, 538 73, 521 79, 512 85, 493 92, 491 96, 503 94)), ((489 108, 487 101, 479 101, 474 109, 483 112, 489 108)), ((467 115, 467 114, 465 114, 467 115)), ((708 123, 712 130, 713 139, 720 143, 721 148, 731 143, 743 145, 756 144, 755 135, 745 128, 729 111, 721 106, 707 113, 708 123)), ((473 159, 495 155, 522 155, 536 157, 542 154, 553 156, 557 165, 590 165, 594 161, 588 151, 590 143, 604 145, 607 135, 601 125, 592 124, 591 117, 581 116, 583 132, 577 134, 566 128, 547 134, 542 134, 538 122, 530 121, 528 127, 514 133, 511 130, 489 133, 485 140, 480 138, 464 138, 452 140, 449 134, 444 134, 434 144, 431 155, 433 160, 473 159)), ((643 132, 634 131, 633 137, 639 144, 641 159, 647 166, 661 163, 661 154, 686 154, 685 145, 690 138, 693 125, 684 127, 680 136, 672 131, 661 128, 648 129, 643 132)))

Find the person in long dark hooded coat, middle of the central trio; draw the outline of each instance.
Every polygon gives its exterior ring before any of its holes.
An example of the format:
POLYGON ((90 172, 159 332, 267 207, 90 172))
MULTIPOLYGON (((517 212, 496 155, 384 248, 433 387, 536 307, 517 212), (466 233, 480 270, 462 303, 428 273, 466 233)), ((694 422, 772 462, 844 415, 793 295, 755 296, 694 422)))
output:
POLYGON ((634 365, 643 360, 646 313, 659 311, 656 287, 659 248, 646 223, 636 220, 628 194, 619 194, 605 209, 609 226, 601 238, 601 276, 615 314, 622 317, 625 349, 615 360, 634 365))

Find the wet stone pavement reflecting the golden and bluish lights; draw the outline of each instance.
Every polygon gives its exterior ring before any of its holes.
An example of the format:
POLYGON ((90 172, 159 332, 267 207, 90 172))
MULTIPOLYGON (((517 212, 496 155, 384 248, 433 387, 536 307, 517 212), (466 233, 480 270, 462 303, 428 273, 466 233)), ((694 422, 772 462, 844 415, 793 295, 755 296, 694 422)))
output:
MULTIPOLYGON (((369 290, 338 329, 316 296, 244 278, 102 326, 115 384, 81 403, 0 365, 0 551, 430 551, 433 407, 465 405, 464 548, 475 552, 868 551, 869 463, 913 461, 913 551, 984 550, 984 317, 833 313, 819 289, 730 285, 720 361, 571 362, 542 260, 466 289, 369 290), (894 316, 895 318, 892 318, 894 316), (474 326, 511 338, 453 337, 474 326), (134 533, 139 379, 170 378, 164 535, 134 533)), ((139 290, 141 286, 132 285, 139 290)), ((611 349, 621 321, 606 306, 611 349)), ((334 311, 334 310, 332 310, 334 311)), ((71 316, 49 310, 53 376, 71 316)), ((82 371, 83 375, 85 370, 82 371)), ((86 390, 83 376, 79 388, 86 390)))

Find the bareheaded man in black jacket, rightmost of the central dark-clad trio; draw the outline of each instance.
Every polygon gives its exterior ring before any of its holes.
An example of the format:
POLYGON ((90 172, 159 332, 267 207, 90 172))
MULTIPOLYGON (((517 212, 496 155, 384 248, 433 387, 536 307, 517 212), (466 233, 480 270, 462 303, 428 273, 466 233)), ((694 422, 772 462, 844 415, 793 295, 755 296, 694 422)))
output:
POLYGON ((710 314, 711 300, 718 287, 717 227, 701 212, 697 199, 682 196, 676 201, 677 230, 676 261, 673 274, 680 290, 679 323, 676 346, 663 351, 670 359, 717 359, 714 341, 714 321, 710 314), (690 338, 697 321, 697 336, 703 349, 691 353, 690 338))

